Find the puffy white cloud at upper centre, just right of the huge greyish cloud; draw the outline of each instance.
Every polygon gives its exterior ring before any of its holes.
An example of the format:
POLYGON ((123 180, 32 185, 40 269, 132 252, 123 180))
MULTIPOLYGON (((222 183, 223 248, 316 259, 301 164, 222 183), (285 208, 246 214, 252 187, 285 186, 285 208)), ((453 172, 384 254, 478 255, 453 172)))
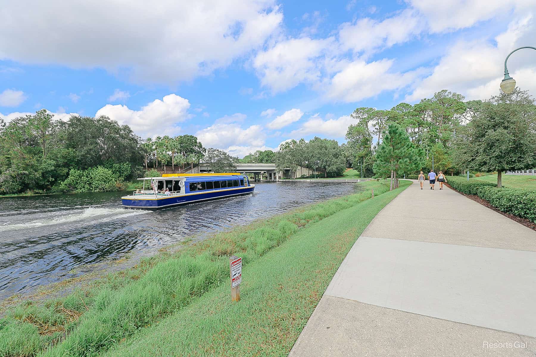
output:
POLYGON ((316 83, 322 77, 319 58, 333 44, 333 39, 313 40, 309 37, 281 41, 259 52, 253 67, 260 83, 272 93, 284 92, 302 82, 316 83))

